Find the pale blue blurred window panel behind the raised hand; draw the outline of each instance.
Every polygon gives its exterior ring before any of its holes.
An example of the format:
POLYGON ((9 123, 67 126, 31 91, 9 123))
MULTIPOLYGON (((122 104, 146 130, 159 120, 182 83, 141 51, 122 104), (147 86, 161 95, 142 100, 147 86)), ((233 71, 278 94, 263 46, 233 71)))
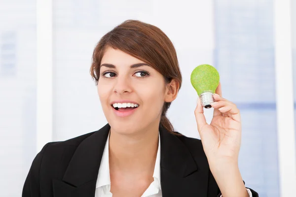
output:
POLYGON ((241 173, 260 197, 279 197, 273 1, 214 2, 215 66, 242 114, 241 173))

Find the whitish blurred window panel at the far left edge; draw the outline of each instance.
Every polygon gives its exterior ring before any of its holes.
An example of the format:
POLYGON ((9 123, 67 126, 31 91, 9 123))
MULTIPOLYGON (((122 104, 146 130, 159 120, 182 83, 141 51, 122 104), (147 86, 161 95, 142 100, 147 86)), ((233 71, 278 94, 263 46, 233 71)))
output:
POLYGON ((36 1, 0 1, 0 190, 19 197, 36 156, 36 1))

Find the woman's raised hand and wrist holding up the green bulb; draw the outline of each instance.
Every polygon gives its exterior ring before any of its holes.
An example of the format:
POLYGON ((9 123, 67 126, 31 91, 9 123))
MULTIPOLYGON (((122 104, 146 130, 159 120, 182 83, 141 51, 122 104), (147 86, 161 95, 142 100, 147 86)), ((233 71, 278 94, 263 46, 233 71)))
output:
POLYGON ((241 117, 236 105, 222 98, 221 84, 214 94, 214 115, 210 125, 198 99, 194 111, 197 129, 213 176, 227 197, 248 197, 240 171, 238 152, 241 145, 241 117))

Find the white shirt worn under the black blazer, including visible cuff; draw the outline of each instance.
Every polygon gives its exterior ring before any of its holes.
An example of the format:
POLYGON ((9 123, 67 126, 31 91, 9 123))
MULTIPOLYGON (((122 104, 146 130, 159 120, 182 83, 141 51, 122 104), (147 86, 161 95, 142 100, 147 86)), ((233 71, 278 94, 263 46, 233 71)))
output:
MULTIPOLYGON (((110 134, 108 135, 108 138, 105 144, 102 161, 99 168, 95 197, 112 197, 112 193, 110 192, 111 181, 110 181, 110 169, 109 169, 109 136, 110 134)), ((160 136, 159 136, 159 133, 158 133, 158 149, 156 154, 153 178, 154 178, 154 181, 149 185, 149 187, 141 197, 162 197, 161 185, 160 185, 160 136)), ((252 197, 251 191, 248 188, 246 189, 250 197, 252 197)))

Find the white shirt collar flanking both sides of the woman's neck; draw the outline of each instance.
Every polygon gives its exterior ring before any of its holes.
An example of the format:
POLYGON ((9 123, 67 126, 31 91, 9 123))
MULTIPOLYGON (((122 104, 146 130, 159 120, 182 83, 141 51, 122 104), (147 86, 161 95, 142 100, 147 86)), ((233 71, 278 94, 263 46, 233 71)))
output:
MULTIPOLYGON (((110 186, 111 180, 110 180, 110 169, 109 169, 109 136, 110 132, 105 144, 105 149, 102 156, 101 165, 99 168, 99 174, 97 178, 97 184, 96 188, 102 187, 102 186, 110 186)), ((153 172, 153 178, 155 181, 155 186, 157 189, 161 189, 160 185, 160 135, 158 131, 158 149, 156 154, 156 160, 154 165, 154 172, 153 172)))

